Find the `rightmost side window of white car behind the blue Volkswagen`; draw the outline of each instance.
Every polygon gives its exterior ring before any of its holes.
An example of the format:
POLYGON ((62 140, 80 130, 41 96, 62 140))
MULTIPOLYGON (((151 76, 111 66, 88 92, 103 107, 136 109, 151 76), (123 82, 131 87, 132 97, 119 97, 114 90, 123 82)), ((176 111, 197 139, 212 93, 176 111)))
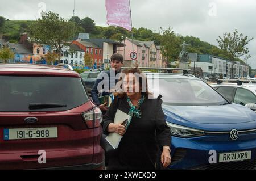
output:
POLYGON ((256 97, 249 90, 237 88, 236 95, 234 97, 234 103, 242 105, 256 103, 256 97))

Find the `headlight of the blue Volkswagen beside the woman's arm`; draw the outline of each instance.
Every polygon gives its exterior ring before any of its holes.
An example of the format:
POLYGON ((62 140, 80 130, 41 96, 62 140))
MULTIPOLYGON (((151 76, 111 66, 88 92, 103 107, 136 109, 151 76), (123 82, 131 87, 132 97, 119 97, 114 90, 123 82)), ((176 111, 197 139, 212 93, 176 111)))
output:
POLYGON ((199 129, 193 129, 188 127, 183 127, 177 124, 172 124, 166 122, 168 127, 171 128, 171 134, 172 136, 177 137, 197 137, 197 136, 203 136, 204 131, 201 131, 199 129))

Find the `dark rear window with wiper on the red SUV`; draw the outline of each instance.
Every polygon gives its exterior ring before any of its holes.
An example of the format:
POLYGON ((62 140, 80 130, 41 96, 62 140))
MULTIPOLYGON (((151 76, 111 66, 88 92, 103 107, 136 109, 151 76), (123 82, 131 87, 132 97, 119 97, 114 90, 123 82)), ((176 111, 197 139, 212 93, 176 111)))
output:
POLYGON ((0 112, 64 111, 89 100, 80 78, 0 76, 0 82, 0 112))

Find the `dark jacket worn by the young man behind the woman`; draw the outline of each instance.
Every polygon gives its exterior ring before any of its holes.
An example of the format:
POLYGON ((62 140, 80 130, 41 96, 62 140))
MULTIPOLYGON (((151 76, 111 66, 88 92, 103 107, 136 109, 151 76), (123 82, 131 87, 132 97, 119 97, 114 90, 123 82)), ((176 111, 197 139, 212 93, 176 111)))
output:
MULTIPOLYGON (((108 90, 110 90, 110 89, 115 89, 115 84, 118 82, 118 80, 119 80, 119 77, 116 77, 116 75, 118 74, 118 73, 120 73, 121 71, 116 71, 115 72, 115 77, 110 77, 110 70, 108 70, 108 71, 104 71, 103 73, 107 73, 108 74, 108 81, 109 81, 109 89, 108 90), (111 79, 114 81, 114 83, 112 83, 111 82, 111 79)), ((90 92, 90 94, 92 95, 92 99, 93 99, 93 102, 98 106, 98 105, 100 105, 101 103, 100 103, 100 100, 98 100, 98 97, 99 97, 99 91, 98 91, 98 83, 100 83, 101 81, 103 81, 104 80, 104 78, 102 77, 102 73, 100 73, 99 75, 98 75, 98 78, 97 78, 97 80, 96 80, 96 82, 94 83, 94 85, 93 85, 93 87, 92 87, 92 91, 90 92)), ((111 92, 102 92, 102 95, 100 95, 100 96, 105 96, 105 95, 109 95, 109 94, 112 94, 111 92)))

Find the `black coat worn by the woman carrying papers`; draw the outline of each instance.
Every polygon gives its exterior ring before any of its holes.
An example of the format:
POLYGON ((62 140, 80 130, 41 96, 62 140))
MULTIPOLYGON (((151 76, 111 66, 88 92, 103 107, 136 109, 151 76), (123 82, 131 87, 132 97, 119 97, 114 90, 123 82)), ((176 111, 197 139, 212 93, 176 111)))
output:
MULTIPOLYGON (((160 99, 145 99, 139 110, 141 118, 133 117, 117 148, 117 154, 109 158, 108 169, 155 169, 159 148, 170 146, 171 132, 165 121, 160 99)), ((104 115, 104 134, 113 123, 117 109, 129 113, 126 96, 115 98, 104 115), (114 105, 115 104, 115 105, 114 105)))

